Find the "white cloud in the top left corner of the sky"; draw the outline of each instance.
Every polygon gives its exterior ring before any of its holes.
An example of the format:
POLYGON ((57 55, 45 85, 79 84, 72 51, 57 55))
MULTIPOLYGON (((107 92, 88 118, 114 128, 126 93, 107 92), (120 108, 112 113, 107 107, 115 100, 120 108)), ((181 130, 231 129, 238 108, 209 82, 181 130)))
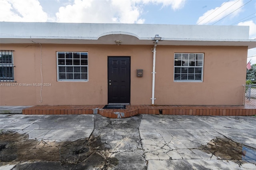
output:
POLYGON ((0 0, 0 21, 46 22, 48 16, 38 0, 0 0))

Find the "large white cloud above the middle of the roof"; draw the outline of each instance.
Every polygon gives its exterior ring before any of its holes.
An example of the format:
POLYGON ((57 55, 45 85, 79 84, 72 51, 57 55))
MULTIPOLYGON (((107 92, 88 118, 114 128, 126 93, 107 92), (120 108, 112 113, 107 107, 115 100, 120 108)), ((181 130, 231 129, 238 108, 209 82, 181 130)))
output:
POLYGON ((182 8, 186 0, 74 0, 74 4, 62 6, 56 13, 57 22, 92 23, 144 23, 140 18, 143 5, 148 3, 182 8))

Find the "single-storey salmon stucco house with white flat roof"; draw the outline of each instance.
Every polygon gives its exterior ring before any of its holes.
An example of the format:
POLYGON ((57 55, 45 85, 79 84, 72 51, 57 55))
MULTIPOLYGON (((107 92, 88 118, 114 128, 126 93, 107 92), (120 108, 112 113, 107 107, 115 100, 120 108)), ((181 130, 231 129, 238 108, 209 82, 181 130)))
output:
POLYGON ((0 22, 0 105, 242 105, 248 26, 0 22))

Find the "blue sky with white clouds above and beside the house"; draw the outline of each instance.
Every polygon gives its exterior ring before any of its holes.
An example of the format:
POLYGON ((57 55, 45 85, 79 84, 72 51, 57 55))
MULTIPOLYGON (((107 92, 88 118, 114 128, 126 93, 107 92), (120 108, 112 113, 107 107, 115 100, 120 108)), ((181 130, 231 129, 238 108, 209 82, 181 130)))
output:
POLYGON ((0 21, 238 25, 256 39, 256 0, 0 0, 0 21))

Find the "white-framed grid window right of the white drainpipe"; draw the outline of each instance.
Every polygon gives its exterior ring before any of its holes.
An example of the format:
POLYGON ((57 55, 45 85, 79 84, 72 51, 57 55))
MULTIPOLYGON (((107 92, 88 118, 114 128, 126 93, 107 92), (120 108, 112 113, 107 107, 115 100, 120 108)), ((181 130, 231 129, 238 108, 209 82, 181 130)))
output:
POLYGON ((203 81, 204 53, 174 53, 174 81, 203 81))

